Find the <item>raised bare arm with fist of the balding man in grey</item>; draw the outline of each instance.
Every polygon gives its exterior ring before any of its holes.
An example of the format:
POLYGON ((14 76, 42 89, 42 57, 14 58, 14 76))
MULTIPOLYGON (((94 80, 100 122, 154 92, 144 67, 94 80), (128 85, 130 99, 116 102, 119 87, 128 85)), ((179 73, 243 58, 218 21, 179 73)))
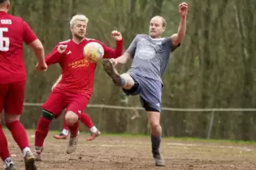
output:
POLYGON ((179 5, 180 25, 178 28, 178 32, 171 36, 172 45, 174 46, 180 45, 181 40, 183 40, 186 34, 187 13, 189 9, 188 7, 188 4, 185 2, 182 2, 179 5))

